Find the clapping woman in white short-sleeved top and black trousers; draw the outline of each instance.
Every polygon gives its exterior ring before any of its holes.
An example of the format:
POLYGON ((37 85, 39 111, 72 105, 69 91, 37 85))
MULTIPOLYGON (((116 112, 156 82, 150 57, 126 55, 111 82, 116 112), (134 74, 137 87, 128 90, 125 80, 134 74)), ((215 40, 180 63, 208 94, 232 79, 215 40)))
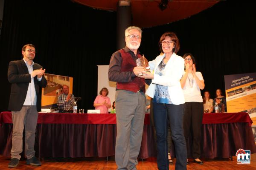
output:
MULTIPOLYGON (((201 126, 204 114, 203 98, 201 90, 204 89, 204 79, 201 72, 195 69, 195 58, 192 54, 183 55, 185 61, 185 71, 180 79, 181 88, 185 97, 185 113, 184 113, 184 136, 186 138, 186 146, 190 146, 188 138, 192 136, 192 157, 194 162, 204 164, 199 158, 201 156, 201 126)), ((187 160, 189 164, 189 161, 187 160)))

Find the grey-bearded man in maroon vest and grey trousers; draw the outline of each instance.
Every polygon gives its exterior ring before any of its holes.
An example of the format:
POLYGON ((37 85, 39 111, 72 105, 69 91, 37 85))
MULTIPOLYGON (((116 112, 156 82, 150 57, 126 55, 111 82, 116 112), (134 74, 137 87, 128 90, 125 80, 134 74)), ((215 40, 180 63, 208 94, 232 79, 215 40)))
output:
POLYGON ((117 170, 136 170, 138 164, 145 117, 145 79, 137 77, 144 68, 136 64, 142 57, 141 34, 139 27, 128 27, 125 48, 116 51, 109 64, 108 79, 116 82, 117 170))

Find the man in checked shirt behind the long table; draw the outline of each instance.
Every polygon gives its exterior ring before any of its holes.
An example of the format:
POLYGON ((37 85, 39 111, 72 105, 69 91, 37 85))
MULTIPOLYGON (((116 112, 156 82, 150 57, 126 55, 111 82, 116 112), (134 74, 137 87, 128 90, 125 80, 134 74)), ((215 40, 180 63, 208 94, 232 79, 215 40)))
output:
POLYGON ((75 102, 75 96, 69 93, 67 85, 62 86, 63 93, 58 96, 59 113, 73 113, 73 108, 70 108, 75 102))

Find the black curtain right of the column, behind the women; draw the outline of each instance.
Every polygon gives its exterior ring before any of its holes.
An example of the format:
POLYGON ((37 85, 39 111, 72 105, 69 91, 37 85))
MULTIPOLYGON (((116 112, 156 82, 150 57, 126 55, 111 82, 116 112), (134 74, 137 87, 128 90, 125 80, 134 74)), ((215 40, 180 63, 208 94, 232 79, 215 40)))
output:
POLYGON ((255 7, 250 1, 220 1, 211 8, 174 23, 143 29, 140 51, 148 60, 160 54, 158 41, 166 31, 180 40, 183 56, 191 53, 201 71, 205 90, 215 97, 217 88, 225 96, 224 75, 256 72, 255 7))

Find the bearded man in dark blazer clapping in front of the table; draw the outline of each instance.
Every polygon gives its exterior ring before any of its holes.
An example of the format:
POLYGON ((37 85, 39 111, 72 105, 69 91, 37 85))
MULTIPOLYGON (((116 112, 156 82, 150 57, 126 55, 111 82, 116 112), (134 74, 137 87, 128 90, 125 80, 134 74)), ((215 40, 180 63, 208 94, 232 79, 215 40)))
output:
POLYGON ((11 61, 8 68, 8 80, 12 83, 9 110, 12 111, 12 150, 8 167, 17 167, 22 152, 22 137, 25 126, 26 164, 40 166, 35 157, 35 128, 38 111, 41 111, 41 94, 39 88, 47 86, 42 66, 34 63, 35 46, 24 45, 21 51, 23 59, 11 61))

